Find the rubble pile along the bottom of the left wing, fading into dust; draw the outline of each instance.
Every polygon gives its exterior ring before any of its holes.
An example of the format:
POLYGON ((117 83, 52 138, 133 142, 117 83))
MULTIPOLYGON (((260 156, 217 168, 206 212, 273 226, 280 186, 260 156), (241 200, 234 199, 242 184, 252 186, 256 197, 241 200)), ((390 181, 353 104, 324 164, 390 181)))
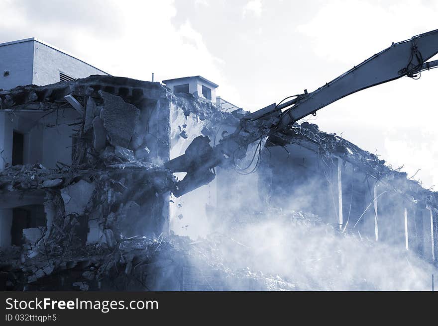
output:
POLYGON ((175 235, 131 237, 114 247, 52 247, 51 252, 24 257, 32 246, 26 244, 2 251, 0 266, 7 290, 297 289, 278 275, 236 266, 227 257, 230 244, 245 250, 243 244, 218 234, 195 242, 175 235))

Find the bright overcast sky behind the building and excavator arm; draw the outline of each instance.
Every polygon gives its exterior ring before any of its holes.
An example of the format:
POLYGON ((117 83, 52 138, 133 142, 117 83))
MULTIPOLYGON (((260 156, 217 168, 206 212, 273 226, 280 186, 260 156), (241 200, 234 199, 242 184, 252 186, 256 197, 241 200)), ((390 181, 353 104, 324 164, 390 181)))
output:
MULTIPOLYGON (((436 0, 0 0, 0 42, 38 37, 114 76, 202 75, 256 110, 438 28, 436 0)), ((434 59, 438 59, 435 57, 434 59)), ((314 122, 438 190, 438 69, 339 100, 314 122)))

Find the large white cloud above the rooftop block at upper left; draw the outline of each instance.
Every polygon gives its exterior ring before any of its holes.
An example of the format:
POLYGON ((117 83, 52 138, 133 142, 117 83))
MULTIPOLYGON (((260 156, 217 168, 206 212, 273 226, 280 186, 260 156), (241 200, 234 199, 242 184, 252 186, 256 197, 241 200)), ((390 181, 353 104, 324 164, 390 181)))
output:
POLYGON ((203 35, 189 20, 172 23, 177 14, 172 0, 66 0, 69 10, 62 15, 48 2, 0 0, 0 42, 35 36, 114 76, 151 80, 155 73, 161 81, 203 75, 226 83, 223 62, 209 51, 203 35), (96 14, 72 25, 82 7, 96 14))

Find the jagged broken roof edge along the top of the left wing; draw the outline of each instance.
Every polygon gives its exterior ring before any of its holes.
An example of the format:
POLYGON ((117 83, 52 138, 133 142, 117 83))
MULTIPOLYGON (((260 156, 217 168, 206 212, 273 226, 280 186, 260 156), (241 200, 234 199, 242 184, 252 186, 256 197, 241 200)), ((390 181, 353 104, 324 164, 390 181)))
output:
MULTIPOLYGON (((31 109, 41 110, 50 108, 55 101, 66 102, 67 99, 75 102, 75 109, 88 108, 81 104, 85 98, 101 98, 99 91, 120 96, 125 102, 135 105, 135 102, 148 98, 151 100, 165 99, 174 102, 183 109, 186 115, 197 114, 200 120, 205 120, 211 114, 220 112, 229 118, 229 122, 238 123, 238 119, 249 113, 244 110, 235 112, 220 111, 216 104, 202 97, 192 94, 174 94, 168 87, 159 82, 139 81, 123 77, 93 75, 75 81, 60 81, 54 84, 37 86, 17 86, 10 90, 0 90, 1 109, 31 109), (67 96, 67 98, 65 98, 67 96)), ((90 117, 87 128, 90 126, 90 117)))

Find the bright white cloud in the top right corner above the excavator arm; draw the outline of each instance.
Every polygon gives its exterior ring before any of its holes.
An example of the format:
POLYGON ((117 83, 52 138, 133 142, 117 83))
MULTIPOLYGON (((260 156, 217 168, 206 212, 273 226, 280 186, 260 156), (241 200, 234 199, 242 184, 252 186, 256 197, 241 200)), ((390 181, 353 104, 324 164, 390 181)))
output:
POLYGON ((332 0, 320 6, 297 31, 312 40, 326 61, 357 64, 392 42, 437 28, 437 4, 399 0, 376 4, 365 0, 332 0), (401 17, 415 8, 421 19, 406 23, 401 17))

